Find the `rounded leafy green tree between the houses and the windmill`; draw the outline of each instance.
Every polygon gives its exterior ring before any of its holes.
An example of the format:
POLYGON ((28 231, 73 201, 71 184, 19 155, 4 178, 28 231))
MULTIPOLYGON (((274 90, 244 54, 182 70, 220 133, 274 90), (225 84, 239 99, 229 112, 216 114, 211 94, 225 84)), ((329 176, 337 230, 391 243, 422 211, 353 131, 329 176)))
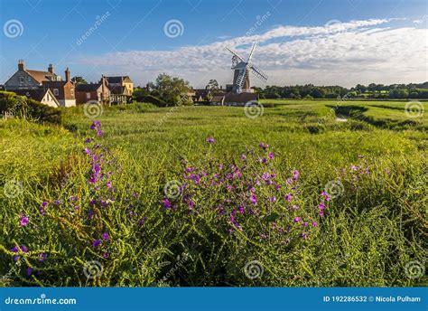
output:
POLYGON ((166 73, 157 76, 154 89, 159 97, 174 106, 189 105, 192 103, 189 93, 191 85, 189 81, 178 77, 172 77, 166 73))

